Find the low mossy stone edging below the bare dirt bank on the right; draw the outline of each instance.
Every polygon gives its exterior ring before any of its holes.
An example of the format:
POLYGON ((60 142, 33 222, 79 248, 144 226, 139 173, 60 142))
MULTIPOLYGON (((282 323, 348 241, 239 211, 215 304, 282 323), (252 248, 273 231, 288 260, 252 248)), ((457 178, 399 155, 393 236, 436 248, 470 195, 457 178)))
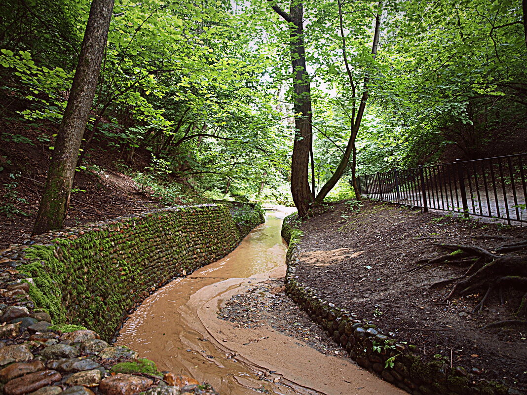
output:
POLYGON ((441 356, 426 362, 413 344, 397 340, 377 325, 321 299, 296 275, 302 239, 296 214, 284 219, 282 237, 289 244, 286 263, 286 293, 306 311, 357 364, 412 395, 513 395, 522 392, 493 380, 485 380, 464 367, 450 367, 441 356))

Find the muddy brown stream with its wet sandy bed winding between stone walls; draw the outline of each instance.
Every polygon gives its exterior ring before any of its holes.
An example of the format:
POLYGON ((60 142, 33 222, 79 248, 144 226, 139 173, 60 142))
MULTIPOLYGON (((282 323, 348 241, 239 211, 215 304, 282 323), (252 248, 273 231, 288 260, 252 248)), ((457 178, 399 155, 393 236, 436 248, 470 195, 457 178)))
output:
POLYGON ((116 344, 132 347, 159 370, 209 382, 222 395, 405 394, 353 361, 325 356, 271 327, 236 328, 217 318, 222 304, 248 284, 285 275, 280 228, 286 214, 269 213, 225 258, 150 295, 116 344))

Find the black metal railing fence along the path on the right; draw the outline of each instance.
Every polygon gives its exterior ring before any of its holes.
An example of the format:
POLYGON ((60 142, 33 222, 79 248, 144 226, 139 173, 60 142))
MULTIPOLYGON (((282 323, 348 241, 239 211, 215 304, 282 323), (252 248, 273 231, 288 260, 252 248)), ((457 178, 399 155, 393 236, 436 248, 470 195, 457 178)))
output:
POLYGON ((527 222, 527 153, 358 177, 360 194, 412 207, 527 222))

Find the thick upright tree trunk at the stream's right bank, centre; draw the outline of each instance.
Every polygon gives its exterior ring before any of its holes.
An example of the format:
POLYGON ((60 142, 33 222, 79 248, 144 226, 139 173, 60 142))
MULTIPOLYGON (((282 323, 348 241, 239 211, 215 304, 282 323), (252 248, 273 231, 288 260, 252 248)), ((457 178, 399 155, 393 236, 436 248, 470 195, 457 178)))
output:
POLYGON ((276 5, 272 9, 289 23, 291 66, 294 74, 295 142, 291 159, 291 194, 300 218, 305 218, 314 200, 309 187, 309 153, 313 143, 311 129, 311 88, 306 70, 304 44, 304 6, 292 1, 287 14, 276 5))

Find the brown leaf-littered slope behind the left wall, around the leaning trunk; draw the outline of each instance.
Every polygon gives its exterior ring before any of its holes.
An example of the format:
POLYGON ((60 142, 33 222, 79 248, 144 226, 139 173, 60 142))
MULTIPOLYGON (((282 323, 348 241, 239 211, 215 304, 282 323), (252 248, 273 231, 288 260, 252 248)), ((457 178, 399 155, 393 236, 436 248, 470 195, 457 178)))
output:
MULTIPOLYGON (((56 126, 32 126, 2 118, 0 131, 4 131, 0 132, 0 249, 4 249, 31 235, 56 126)), ((135 150, 133 157, 129 156, 129 151, 108 141, 92 144, 82 164, 85 169, 75 174, 66 227, 166 205, 132 176, 148 166, 150 152, 135 150)))

